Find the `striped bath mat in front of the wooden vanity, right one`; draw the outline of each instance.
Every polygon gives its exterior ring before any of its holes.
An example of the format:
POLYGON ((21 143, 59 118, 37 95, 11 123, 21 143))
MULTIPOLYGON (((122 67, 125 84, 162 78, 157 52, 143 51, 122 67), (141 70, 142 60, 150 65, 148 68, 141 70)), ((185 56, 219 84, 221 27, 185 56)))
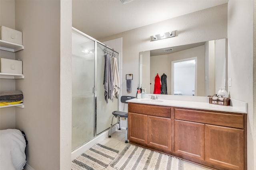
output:
POLYGON ((110 166, 117 170, 181 169, 181 163, 178 158, 134 145, 127 145, 110 166))

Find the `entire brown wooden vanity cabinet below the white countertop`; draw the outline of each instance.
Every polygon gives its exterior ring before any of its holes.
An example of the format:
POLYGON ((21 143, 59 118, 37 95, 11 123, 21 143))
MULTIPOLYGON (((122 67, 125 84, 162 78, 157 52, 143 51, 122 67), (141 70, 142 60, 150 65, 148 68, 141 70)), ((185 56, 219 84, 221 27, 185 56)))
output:
POLYGON ((246 114, 128 103, 129 143, 218 170, 246 170, 246 114))

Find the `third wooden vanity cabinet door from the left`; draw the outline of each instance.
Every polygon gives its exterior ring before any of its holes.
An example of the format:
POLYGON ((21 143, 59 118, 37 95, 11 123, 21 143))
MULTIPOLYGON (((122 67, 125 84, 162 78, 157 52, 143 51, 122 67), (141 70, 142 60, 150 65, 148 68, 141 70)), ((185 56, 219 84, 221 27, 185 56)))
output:
POLYGON ((205 125, 174 120, 174 152, 205 160, 205 125))

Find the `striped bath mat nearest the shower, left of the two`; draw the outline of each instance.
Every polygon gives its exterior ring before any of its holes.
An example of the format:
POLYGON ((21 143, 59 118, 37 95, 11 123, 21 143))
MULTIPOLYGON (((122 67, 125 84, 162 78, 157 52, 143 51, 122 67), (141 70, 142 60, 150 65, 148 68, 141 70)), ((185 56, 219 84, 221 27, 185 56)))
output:
POLYGON ((104 170, 118 156, 118 152, 96 144, 72 161, 71 170, 104 170))

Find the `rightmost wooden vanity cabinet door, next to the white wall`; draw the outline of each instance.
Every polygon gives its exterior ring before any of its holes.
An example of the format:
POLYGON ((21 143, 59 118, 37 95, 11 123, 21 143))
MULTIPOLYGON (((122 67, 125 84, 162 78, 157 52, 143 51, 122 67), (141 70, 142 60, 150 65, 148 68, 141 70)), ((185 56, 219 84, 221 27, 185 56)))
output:
POLYGON ((206 162, 244 169, 244 130, 206 125, 206 162))

